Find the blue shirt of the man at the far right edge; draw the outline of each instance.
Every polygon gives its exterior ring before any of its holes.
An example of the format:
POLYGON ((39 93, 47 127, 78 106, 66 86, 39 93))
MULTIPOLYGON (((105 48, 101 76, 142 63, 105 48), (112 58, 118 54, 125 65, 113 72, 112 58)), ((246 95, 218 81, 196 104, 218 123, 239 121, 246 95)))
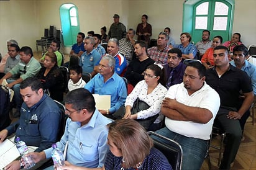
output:
MULTIPOLYGON (((232 66, 235 66, 234 60, 230 61, 229 63, 231 63, 232 66)), ((256 95, 256 66, 245 60, 244 66, 242 66, 241 70, 245 71, 245 73, 247 73, 249 76, 250 84, 252 84, 252 89, 254 89, 254 95, 256 95)))

